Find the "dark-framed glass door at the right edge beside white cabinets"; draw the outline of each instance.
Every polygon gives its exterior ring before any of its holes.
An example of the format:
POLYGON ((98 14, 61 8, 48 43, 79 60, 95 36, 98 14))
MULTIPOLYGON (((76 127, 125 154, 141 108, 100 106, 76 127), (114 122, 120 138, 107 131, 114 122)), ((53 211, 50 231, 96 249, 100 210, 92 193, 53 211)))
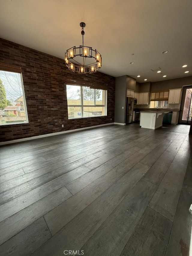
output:
POLYGON ((179 112, 179 123, 190 124, 192 117, 192 86, 185 86, 183 88, 181 108, 179 112))

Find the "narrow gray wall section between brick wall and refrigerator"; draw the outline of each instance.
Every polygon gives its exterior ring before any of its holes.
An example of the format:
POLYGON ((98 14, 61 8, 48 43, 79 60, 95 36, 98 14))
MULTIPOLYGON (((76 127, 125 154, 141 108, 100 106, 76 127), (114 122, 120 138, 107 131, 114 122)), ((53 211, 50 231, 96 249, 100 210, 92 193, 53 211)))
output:
POLYGON ((116 77, 115 84, 115 122, 125 123, 125 110, 126 110, 126 87, 127 76, 116 77), (122 109, 122 107, 124 107, 122 109))

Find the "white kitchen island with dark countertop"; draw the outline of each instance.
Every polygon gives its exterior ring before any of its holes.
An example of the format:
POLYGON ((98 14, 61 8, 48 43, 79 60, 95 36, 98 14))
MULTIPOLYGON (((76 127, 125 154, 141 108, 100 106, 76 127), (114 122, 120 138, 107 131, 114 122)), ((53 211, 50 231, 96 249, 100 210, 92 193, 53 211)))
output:
POLYGON ((141 111, 140 112, 140 126, 142 128, 148 129, 157 129, 162 126, 163 117, 165 113, 169 113, 169 111, 141 111))

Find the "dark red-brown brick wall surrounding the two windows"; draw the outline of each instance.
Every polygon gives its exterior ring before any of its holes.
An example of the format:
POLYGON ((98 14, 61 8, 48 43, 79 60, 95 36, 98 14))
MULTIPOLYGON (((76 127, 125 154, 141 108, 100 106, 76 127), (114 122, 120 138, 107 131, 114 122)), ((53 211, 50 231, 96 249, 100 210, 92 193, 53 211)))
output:
POLYGON ((1 38, 0 62, 21 67, 29 118, 28 124, 1 125, 1 141, 114 122, 114 77, 101 72, 73 73, 65 67, 63 59, 1 38), (66 78, 107 84, 107 116, 68 120, 66 78))

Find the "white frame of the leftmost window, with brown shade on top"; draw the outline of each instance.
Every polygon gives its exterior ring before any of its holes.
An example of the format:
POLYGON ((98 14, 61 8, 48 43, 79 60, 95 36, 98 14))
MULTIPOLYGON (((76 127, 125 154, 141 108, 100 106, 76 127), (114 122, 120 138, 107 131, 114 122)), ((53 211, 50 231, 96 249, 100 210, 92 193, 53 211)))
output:
MULTIPOLYGON (((2 64, 1 64, 2 67, 2 64)), ((10 122, 10 123, 0 123, 0 126, 2 125, 19 125, 19 124, 29 124, 29 118, 28 118, 28 111, 27 111, 27 104, 26 104, 26 98, 25 98, 25 89, 24 89, 24 84, 23 84, 23 77, 22 77, 22 72, 21 71, 14 71, 14 66, 11 65, 6 65, 7 68, 1 68, 0 71, 5 71, 5 72, 12 72, 12 73, 17 73, 20 75, 20 81, 21 81, 21 89, 22 89, 22 96, 23 96, 23 108, 26 116, 26 121, 24 122, 10 122), (10 66, 10 68, 9 68, 10 66)))

